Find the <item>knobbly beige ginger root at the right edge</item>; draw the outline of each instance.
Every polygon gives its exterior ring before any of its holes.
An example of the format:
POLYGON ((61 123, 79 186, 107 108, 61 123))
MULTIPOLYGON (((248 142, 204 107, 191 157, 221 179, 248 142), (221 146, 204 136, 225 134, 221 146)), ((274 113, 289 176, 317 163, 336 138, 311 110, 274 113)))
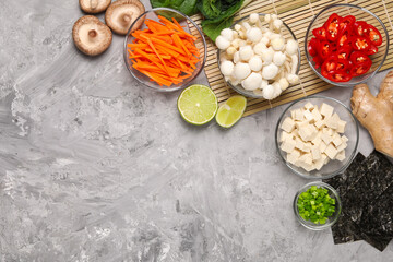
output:
POLYGON ((356 85, 350 98, 353 114, 370 132, 376 150, 393 157, 393 71, 374 97, 366 84, 356 85))

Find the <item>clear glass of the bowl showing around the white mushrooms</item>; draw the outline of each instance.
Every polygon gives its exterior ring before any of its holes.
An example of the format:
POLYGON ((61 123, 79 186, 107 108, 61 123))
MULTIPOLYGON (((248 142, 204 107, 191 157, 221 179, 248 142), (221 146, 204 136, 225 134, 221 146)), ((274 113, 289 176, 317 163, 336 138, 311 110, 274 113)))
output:
MULTIPOLYGON (((259 13, 259 15, 262 16, 262 17, 264 17, 266 14, 264 14, 264 13, 259 13)), ((234 23, 234 24, 230 26, 230 28, 234 29, 235 25, 240 24, 241 22, 248 21, 248 20, 249 20, 249 15, 246 16, 246 17, 242 17, 242 19, 240 19, 240 20, 238 20, 238 21, 236 21, 236 23, 234 23)), ((284 23, 284 22, 283 22, 282 33, 283 33, 283 36, 284 36, 285 40, 295 39, 295 40, 297 41, 295 34, 291 32, 291 29, 289 28, 289 26, 288 26, 286 23, 284 23)), ((219 57, 223 56, 223 55, 222 55, 223 52, 224 52, 224 51, 223 51, 223 50, 219 50, 219 49, 218 49, 218 51, 217 51, 218 68, 219 68, 219 66, 221 66, 219 57)), ((298 67, 297 67, 297 70, 296 70, 296 74, 298 74, 298 73, 299 73, 299 70, 300 70, 300 63, 301 63, 300 57, 301 57, 301 56, 300 56, 300 49, 298 48, 298 59, 299 59, 299 63, 298 63, 298 67)), ((224 78, 224 75, 223 75, 223 78, 224 78)), ((245 90, 240 84, 238 84, 238 85, 233 85, 229 81, 227 81, 226 83, 227 83, 233 90, 235 90, 237 93, 239 93, 239 94, 241 94, 241 95, 243 95, 243 96, 246 96, 246 97, 263 98, 263 96, 257 95, 257 94, 253 93, 252 91, 247 91, 247 90, 245 90)))

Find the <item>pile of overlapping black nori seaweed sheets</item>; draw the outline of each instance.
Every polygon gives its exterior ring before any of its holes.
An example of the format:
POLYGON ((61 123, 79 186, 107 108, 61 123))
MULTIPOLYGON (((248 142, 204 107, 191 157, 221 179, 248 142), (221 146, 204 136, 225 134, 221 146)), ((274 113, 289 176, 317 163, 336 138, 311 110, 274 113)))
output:
POLYGON ((332 226, 334 243, 366 240, 383 251, 393 233, 393 165, 377 151, 357 154, 342 176, 324 180, 336 188, 342 214, 332 226))

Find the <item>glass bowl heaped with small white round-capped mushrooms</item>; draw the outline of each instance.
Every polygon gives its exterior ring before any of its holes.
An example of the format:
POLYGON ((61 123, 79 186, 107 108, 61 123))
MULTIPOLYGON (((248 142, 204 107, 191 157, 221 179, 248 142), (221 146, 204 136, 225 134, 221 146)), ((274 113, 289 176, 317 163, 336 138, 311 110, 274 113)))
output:
POLYGON ((215 44, 225 81, 247 97, 272 100, 299 82, 298 41, 276 14, 252 13, 223 29, 215 44))

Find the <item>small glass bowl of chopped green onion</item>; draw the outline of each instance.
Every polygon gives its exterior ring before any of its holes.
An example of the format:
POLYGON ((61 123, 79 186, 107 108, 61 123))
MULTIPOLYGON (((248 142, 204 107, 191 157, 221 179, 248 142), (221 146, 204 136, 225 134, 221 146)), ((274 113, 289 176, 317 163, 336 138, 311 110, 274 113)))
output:
POLYGON ((322 230, 331 227, 341 214, 342 203, 337 191, 330 184, 307 183, 295 195, 295 215, 305 227, 322 230))

